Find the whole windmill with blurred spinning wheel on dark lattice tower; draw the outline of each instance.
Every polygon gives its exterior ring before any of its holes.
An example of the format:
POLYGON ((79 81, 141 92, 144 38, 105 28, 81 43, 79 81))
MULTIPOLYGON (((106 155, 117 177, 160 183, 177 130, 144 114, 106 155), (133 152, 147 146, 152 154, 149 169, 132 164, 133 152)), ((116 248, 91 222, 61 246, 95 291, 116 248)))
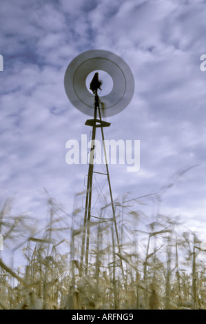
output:
MULTIPOLYGON (((64 77, 65 92, 71 103, 79 111, 92 116, 92 119, 87 119, 85 125, 92 127, 92 143, 95 143, 96 129, 101 128, 101 139, 104 145, 103 128, 109 127, 110 123, 103 121, 103 117, 112 117, 118 114, 130 103, 134 94, 134 77, 133 74, 123 59, 112 52, 105 50, 90 50, 83 52, 75 57, 68 65, 64 77), (109 94, 99 98, 99 90, 104 86, 99 80, 99 72, 104 71, 110 75, 113 81, 113 88, 109 94), (87 76, 94 72, 94 76, 90 83, 90 90, 86 86, 87 76)), ((90 247, 90 223, 92 218, 99 219, 99 217, 92 215, 92 181, 94 175, 94 154, 90 150, 90 163, 87 174, 87 191, 85 199, 85 215, 83 221, 83 239, 81 245, 81 265, 80 273, 83 271, 83 259, 85 257, 85 274, 87 274, 88 256, 90 247)), ((106 152, 104 147, 106 158, 106 152)), ((119 253, 120 243, 119 234, 116 225, 116 215, 114 201, 112 197, 112 187, 110 183, 109 168, 107 160, 105 163, 105 173, 110 192, 110 205, 112 206, 112 216, 107 221, 114 224, 116 232, 116 243, 118 245, 119 253)), ((96 172, 101 173, 101 172, 96 172)), ((122 265, 121 265, 122 266, 122 265)), ((123 267, 122 267, 123 272, 123 267)))

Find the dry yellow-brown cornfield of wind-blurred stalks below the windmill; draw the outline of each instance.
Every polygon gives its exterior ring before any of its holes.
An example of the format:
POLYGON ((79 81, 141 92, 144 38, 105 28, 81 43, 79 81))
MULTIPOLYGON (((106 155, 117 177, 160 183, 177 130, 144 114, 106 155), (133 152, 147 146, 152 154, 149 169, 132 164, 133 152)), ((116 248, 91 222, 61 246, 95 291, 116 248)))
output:
POLYGON ((114 224, 103 214, 87 224, 91 239, 85 269, 80 196, 71 215, 47 197, 48 220, 42 228, 38 221, 31 225, 25 214, 12 217, 12 202, 4 201, 0 232, 11 261, 6 264, 1 251, 2 310, 206 309, 204 242, 180 218, 156 213, 151 221, 141 212, 141 199, 123 196, 114 202, 119 246, 114 224), (19 253, 26 265, 15 268, 19 253))

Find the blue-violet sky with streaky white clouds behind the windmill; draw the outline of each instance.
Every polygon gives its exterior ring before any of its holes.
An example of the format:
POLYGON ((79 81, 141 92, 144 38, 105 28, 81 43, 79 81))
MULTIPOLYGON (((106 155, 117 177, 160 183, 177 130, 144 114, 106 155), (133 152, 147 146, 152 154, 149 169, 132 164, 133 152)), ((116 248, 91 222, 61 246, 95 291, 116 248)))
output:
MULTIPOLYGON (((130 104, 105 138, 140 141, 140 168, 109 165, 114 199, 158 194, 158 212, 206 240, 206 1, 1 0, 0 199, 13 214, 45 217, 44 189, 72 212, 87 165, 65 143, 90 137, 65 94, 65 70, 87 50, 108 50, 134 74, 130 104)), ((148 216, 155 212, 150 199, 148 216)), ((137 205, 138 208, 138 205, 137 205)))

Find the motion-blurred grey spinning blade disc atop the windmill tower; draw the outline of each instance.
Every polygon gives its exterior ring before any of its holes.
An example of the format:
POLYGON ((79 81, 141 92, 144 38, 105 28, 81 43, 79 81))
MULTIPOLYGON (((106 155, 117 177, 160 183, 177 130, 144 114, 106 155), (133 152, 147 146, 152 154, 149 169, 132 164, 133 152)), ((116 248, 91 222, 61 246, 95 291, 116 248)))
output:
POLYGON ((127 63, 112 52, 90 50, 75 57, 65 72, 65 92, 74 107, 93 117, 94 95, 87 89, 86 79, 96 70, 105 71, 112 77, 112 91, 101 97, 101 101, 105 117, 114 116, 130 103, 134 94, 134 77, 127 63))

